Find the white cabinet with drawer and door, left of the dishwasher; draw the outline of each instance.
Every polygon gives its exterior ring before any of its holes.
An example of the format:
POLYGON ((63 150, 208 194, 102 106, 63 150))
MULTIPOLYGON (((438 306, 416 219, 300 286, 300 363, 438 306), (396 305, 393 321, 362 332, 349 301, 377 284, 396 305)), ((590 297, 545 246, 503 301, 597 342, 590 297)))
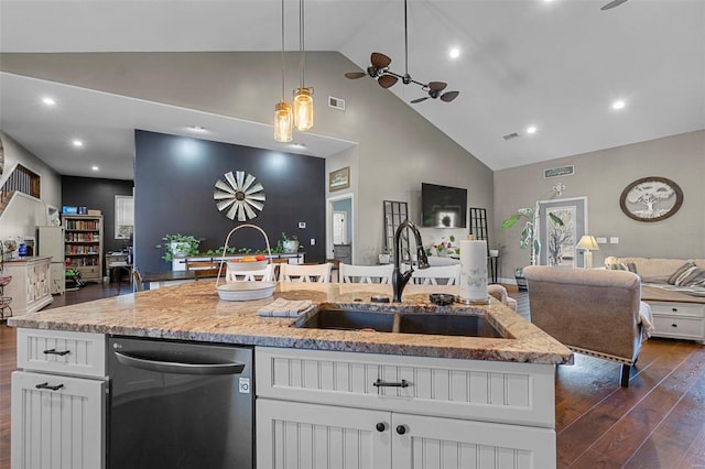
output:
POLYGON ((105 467, 105 336, 18 329, 12 469, 105 467))

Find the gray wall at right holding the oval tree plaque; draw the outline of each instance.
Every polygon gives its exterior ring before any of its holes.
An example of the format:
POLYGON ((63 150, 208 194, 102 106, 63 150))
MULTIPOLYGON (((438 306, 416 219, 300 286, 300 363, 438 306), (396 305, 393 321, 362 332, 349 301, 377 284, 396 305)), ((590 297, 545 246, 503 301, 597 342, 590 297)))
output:
MULTIPOLYGON (((690 132, 599 152, 552 160, 495 173, 495 219, 501 220, 520 207, 533 206, 562 182, 563 197, 587 196, 588 230, 596 237, 617 237, 618 244, 601 244, 593 264, 608 255, 644 258, 705 258, 705 131, 690 132), (575 175, 543 178, 543 170, 575 165, 575 175), (683 189, 681 209, 655 222, 636 221, 619 207, 621 192, 633 181, 661 176, 683 189)), ((521 228, 498 229, 502 246, 503 277, 528 264, 529 251, 519 249, 521 228)))

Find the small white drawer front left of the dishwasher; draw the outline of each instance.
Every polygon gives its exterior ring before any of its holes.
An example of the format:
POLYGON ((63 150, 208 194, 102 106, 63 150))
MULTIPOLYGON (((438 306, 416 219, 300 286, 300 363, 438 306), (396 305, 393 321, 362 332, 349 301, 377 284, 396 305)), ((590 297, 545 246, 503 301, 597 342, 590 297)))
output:
POLYGON ((18 329, 18 368, 79 377, 106 375, 102 334, 18 329))

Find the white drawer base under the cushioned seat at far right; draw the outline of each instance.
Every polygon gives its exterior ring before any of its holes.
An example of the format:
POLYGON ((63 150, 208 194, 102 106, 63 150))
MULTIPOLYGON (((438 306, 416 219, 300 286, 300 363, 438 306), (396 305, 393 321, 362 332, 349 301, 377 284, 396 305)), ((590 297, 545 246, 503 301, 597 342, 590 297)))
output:
POLYGON ((653 314, 653 336, 697 340, 705 343, 705 305, 649 302, 653 314))

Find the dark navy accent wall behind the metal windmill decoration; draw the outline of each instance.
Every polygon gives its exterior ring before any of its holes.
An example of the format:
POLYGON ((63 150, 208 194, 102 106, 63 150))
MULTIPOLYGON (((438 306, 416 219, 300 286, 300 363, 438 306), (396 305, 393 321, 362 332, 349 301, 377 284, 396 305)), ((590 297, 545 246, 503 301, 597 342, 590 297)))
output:
MULTIPOLYGON (((228 172, 257 177, 267 196, 257 218, 272 249, 282 231, 299 237, 306 262, 325 260, 325 160, 270 150, 137 130, 134 133, 134 262, 142 272, 165 271, 155 246, 164 234, 193 234, 200 250, 223 247, 232 228, 213 198, 215 184, 228 172), (299 228, 304 221, 306 228, 299 228), (310 246, 311 239, 316 240, 310 246)), ((264 249, 259 231, 241 229, 229 246, 264 249)))

